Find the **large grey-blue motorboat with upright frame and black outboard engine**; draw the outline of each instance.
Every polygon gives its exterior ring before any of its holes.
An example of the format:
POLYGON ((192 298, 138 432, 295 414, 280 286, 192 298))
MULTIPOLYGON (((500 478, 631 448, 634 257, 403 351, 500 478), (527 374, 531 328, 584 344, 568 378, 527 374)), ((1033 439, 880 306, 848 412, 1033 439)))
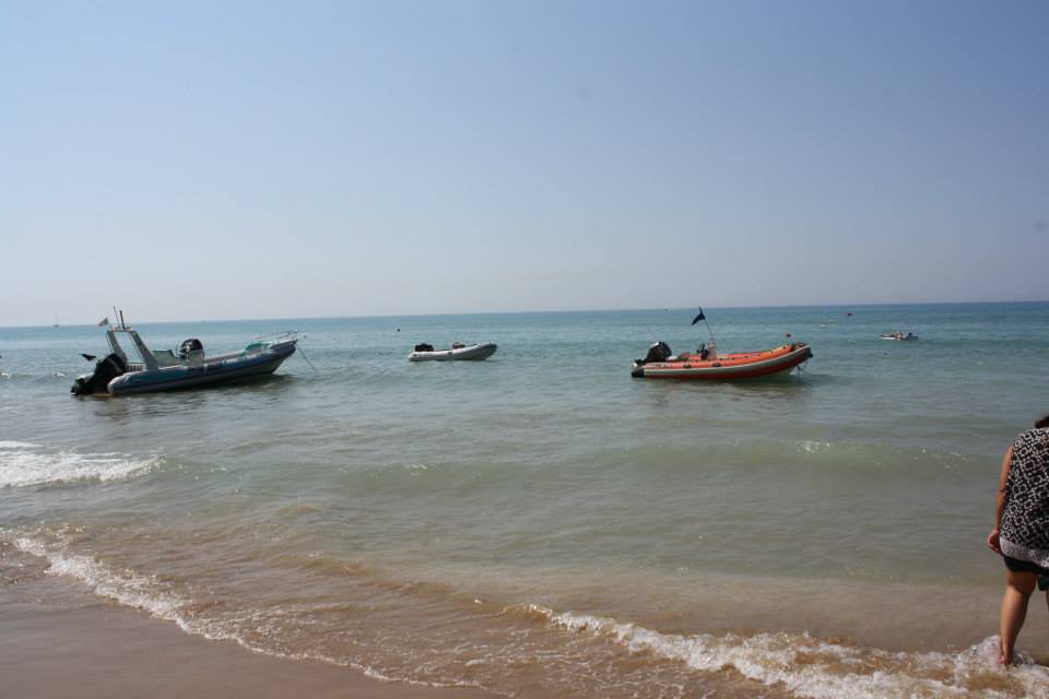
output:
MULTIPOLYGON (((150 350, 139 333, 123 324, 106 330, 110 354, 95 363, 95 369, 76 379, 70 392, 75 395, 106 393, 126 395, 153 391, 202 388, 235 379, 272 374, 295 353, 297 333, 288 331, 254 340, 239 352, 204 355, 200 340, 191 337, 178 352, 150 350), (119 336, 130 340, 129 357, 119 336)), ((91 355, 84 355, 89 360, 91 355)))

